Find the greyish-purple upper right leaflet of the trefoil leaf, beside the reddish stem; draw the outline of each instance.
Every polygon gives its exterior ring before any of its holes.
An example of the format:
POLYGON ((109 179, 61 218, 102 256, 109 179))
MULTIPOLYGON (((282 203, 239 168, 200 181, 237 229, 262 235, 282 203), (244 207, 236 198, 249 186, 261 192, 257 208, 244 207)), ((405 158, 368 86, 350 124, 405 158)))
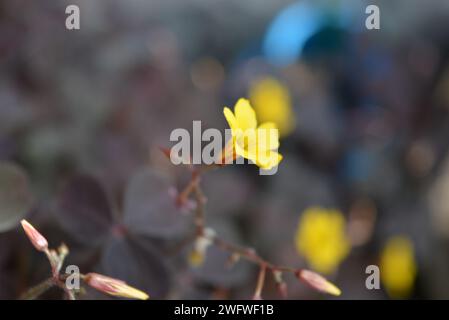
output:
POLYGON ((151 169, 138 171, 125 194, 124 224, 134 234, 172 238, 186 227, 184 214, 176 207, 170 179, 151 169))

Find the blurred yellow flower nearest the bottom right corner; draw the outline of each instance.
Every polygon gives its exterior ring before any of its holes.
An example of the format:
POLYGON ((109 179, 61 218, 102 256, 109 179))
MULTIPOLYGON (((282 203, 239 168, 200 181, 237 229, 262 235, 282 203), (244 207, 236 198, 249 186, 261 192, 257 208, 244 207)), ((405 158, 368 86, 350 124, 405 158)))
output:
POLYGON ((393 298, 405 298, 416 276, 416 262, 412 242, 404 236, 390 238, 380 257, 380 278, 393 298))

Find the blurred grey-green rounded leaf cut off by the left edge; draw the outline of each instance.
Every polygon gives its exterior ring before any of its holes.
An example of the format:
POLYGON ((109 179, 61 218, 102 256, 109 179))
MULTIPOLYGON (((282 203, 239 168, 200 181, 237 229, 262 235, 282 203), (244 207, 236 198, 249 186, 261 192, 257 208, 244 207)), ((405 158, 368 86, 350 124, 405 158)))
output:
POLYGON ((33 195, 28 177, 12 163, 0 163, 0 232, 9 230, 31 209, 33 195))

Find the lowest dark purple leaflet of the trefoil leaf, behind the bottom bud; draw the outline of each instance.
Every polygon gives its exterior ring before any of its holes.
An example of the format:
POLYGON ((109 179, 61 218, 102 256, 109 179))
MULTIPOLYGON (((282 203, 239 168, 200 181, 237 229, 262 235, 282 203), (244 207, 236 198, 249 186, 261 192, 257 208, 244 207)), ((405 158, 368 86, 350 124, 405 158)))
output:
POLYGON ((150 295, 165 298, 170 289, 170 272, 163 256, 148 239, 114 238, 103 252, 104 274, 126 281, 150 295))

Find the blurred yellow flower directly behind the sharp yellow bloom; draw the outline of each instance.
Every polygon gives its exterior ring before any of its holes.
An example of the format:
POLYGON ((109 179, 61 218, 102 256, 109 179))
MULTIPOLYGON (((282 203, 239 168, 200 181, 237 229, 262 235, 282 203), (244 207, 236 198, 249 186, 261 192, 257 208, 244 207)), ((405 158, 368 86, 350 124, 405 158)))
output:
POLYGON ((282 137, 294 130, 295 115, 290 93, 277 79, 265 77, 253 83, 249 90, 249 98, 259 120, 274 122, 282 137))

